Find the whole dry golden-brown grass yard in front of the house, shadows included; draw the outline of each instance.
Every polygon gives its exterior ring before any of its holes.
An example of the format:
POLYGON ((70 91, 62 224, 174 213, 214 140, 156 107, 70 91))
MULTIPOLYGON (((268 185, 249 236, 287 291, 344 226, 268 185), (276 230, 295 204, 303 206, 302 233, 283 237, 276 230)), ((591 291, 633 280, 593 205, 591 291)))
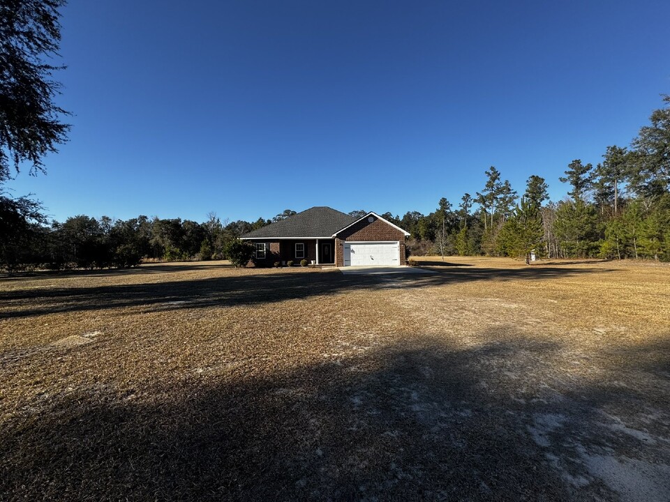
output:
POLYGON ((0 500, 670 499, 670 267, 0 277, 0 500))

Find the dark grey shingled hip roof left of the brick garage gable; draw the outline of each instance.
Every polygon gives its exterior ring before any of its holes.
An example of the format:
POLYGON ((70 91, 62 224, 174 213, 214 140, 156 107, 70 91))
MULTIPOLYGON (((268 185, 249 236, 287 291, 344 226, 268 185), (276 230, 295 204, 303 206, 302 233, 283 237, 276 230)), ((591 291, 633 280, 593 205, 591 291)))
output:
POLYGON ((330 237, 357 219, 326 206, 317 206, 251 231, 242 238, 330 237))

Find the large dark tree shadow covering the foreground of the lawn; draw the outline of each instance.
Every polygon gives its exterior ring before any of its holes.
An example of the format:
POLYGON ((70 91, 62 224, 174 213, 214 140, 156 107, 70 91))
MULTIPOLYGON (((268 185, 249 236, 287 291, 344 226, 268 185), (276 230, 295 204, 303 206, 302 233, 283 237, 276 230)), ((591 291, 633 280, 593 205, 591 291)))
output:
MULTIPOLYGON (((486 338, 493 341, 468 350, 415 338, 411 347, 257 377, 237 367, 137 381, 135 389, 104 382, 48 405, 27 403, 0 423, 0 493, 8 500, 618 499, 580 464, 575 443, 643 457, 650 447, 603 427, 597 407, 642 409, 658 382, 626 393, 607 381, 561 382, 548 369, 563 357, 559 344, 496 331, 486 338), (579 482, 571 485, 571 476, 579 482)), ((667 358, 665 350, 653 360, 667 358)), ((641 349, 619 368, 623 377, 643 371, 637 363, 649 357, 641 349)), ((667 416, 668 402, 655 404, 667 416)), ((664 455, 657 461, 667 462, 664 455)))

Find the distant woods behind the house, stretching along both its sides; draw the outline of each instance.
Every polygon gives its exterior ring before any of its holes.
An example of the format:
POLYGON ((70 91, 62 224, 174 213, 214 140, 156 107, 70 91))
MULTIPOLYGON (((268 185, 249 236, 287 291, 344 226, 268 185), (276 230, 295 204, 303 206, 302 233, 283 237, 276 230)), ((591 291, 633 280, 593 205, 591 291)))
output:
MULTIPOLYGON (((664 103, 629 147, 608 146, 596 165, 570 162, 560 178, 570 187, 564 200, 549 201, 548 185, 538 175, 528 178, 519 197, 490 167, 481 191, 464 194, 457 206, 442 198, 429 215, 382 216, 410 232, 412 254, 528 259, 534 252, 540 258, 670 261, 670 97, 664 96, 664 103)), ((287 209, 253 223, 221 222, 214 213, 202 223, 79 215, 47 225, 36 202, 2 202, 0 197, 0 267, 10 271, 220 259, 242 234, 295 214, 287 209)))

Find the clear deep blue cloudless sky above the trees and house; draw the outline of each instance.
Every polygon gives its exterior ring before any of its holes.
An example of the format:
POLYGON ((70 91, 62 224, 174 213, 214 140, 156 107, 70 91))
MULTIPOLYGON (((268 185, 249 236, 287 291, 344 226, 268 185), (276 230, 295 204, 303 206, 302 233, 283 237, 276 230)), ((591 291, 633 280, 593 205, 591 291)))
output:
POLYGON ((9 184, 52 218, 553 199, 670 93, 670 2, 90 1, 62 11, 70 142, 9 184))

